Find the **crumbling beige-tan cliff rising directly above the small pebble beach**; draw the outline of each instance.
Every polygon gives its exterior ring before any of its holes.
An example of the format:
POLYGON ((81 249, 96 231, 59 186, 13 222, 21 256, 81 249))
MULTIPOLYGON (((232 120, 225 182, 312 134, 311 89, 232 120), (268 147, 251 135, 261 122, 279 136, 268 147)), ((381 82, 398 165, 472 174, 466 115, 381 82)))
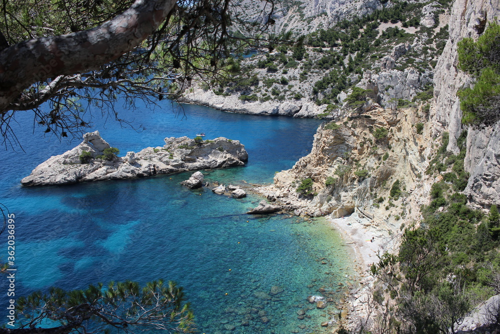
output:
POLYGON ((378 108, 351 116, 336 129, 321 125, 311 152, 259 191, 270 200, 298 205, 296 214, 336 218, 356 211, 374 227, 396 232, 401 223, 419 220, 419 207, 434 181, 425 175, 433 152, 428 128, 417 133, 415 127, 424 114, 415 108, 378 108), (385 129, 386 136, 375 138, 377 129, 385 129), (316 196, 297 193, 306 178, 312 179, 316 196), (402 196, 391 200, 396 180, 402 196))

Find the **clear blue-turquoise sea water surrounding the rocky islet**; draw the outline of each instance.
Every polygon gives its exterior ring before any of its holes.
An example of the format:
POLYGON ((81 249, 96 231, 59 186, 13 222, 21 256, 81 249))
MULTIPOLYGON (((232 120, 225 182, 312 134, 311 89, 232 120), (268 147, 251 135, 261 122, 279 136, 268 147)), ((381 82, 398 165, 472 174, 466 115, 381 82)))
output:
MULTIPOLYGON (((175 118, 168 102, 154 112, 122 111, 143 128, 140 133, 97 119, 92 131, 99 130, 120 155, 162 146, 164 137, 198 132, 205 132, 205 139, 238 139, 248 151, 247 166, 206 171, 205 178, 270 183, 275 171, 307 154, 318 125, 317 120, 183 108, 186 118, 175 118)), ((32 135, 25 127, 32 124, 27 114, 17 121, 14 131, 25 152, 0 152, 0 203, 16 216, 16 294, 50 285, 71 289, 109 280, 175 280, 185 289, 198 329, 206 333, 225 332, 225 325, 241 333, 311 332, 320 330, 321 314, 334 311, 308 310, 311 318, 304 320, 296 313, 319 287, 335 292, 338 282, 345 282, 349 259, 324 221, 248 216, 244 212, 260 198, 235 200, 207 189, 188 190, 179 185, 185 173, 21 188, 19 180, 37 164, 79 141, 32 135), (283 292, 268 296, 272 286, 283 292)), ((6 291, 5 281, 0 289, 6 291)), ((6 303, 4 293, 0 301, 6 303)))

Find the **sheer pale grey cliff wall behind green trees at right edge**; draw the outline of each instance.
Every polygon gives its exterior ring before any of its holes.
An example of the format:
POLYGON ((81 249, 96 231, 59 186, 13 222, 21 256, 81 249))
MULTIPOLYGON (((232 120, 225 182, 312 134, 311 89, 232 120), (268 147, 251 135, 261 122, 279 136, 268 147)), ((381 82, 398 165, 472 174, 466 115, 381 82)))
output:
MULTIPOLYGON (((439 58, 434 74, 434 103, 431 107, 432 134, 449 132, 448 151, 458 153, 456 139, 463 131, 460 88, 467 87, 471 78, 457 69, 457 43, 463 38, 476 39, 482 25, 495 21, 500 12, 498 0, 456 0, 449 20, 449 40, 439 58)), ((467 154, 464 165, 470 173, 465 194, 469 201, 483 207, 500 204, 500 127, 468 129, 467 154)))

